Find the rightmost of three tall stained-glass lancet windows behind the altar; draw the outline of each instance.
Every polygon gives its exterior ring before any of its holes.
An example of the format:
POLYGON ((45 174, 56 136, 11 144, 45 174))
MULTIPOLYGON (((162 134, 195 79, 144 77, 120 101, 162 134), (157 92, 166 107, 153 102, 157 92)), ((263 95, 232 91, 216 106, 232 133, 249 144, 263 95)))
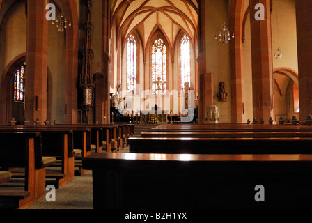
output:
POLYGON ((184 34, 181 39, 181 86, 180 90, 185 89, 185 83, 191 86, 191 47, 189 37, 184 34))

